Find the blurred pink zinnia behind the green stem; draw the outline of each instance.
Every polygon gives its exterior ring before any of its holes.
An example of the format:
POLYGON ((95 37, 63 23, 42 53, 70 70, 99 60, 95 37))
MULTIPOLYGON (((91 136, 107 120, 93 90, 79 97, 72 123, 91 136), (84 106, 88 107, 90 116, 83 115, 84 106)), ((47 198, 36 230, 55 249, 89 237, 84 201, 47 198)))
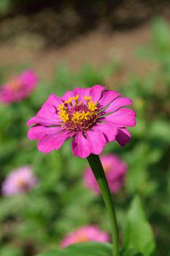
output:
MULTIPOLYGON (((113 193, 118 192, 124 184, 125 173, 127 170, 125 162, 123 162, 115 154, 107 154, 105 156, 101 156, 100 158, 104 167, 104 172, 107 177, 110 191, 113 193)), ((85 170, 84 182, 86 187, 93 190, 97 194, 100 193, 96 178, 93 175, 90 167, 85 170)))

